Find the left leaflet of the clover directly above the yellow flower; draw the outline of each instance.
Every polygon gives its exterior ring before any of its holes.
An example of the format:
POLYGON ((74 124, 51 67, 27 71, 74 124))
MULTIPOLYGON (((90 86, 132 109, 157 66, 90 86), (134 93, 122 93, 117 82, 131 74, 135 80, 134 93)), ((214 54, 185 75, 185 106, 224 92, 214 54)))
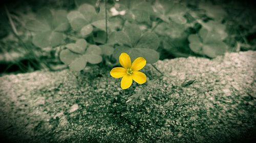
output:
POLYGON ((109 44, 123 44, 132 47, 131 40, 122 31, 112 32, 109 36, 109 44))

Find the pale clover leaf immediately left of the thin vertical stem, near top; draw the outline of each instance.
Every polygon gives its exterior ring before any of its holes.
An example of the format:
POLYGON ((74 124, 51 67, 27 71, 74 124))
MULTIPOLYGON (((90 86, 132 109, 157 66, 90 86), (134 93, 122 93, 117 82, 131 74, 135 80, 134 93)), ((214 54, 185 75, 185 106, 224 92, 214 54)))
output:
POLYGON ((104 7, 97 13, 95 8, 89 4, 81 5, 77 11, 71 11, 67 18, 74 31, 80 32, 82 37, 92 33, 93 27, 105 31, 104 7))

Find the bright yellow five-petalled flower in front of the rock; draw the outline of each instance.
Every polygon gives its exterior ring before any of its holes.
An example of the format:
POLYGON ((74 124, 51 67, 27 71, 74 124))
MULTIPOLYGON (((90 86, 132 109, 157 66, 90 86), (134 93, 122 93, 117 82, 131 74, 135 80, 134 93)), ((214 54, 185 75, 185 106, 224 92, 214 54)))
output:
POLYGON ((142 57, 138 57, 131 62, 130 56, 123 52, 119 56, 119 63, 122 67, 113 68, 110 71, 110 75, 114 78, 121 78, 121 88, 123 90, 131 87, 133 80, 139 84, 146 82, 146 75, 141 70, 146 65, 146 60, 142 57))

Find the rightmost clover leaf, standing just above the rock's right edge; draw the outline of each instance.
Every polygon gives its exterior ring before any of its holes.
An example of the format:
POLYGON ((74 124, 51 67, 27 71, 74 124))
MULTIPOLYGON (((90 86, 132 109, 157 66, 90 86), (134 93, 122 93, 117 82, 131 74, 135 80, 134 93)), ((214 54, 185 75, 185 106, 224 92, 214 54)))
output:
POLYGON ((217 39, 215 33, 211 33, 205 28, 201 28, 198 35, 189 35, 188 41, 192 51, 210 58, 224 54, 227 50, 227 45, 221 39, 217 39))

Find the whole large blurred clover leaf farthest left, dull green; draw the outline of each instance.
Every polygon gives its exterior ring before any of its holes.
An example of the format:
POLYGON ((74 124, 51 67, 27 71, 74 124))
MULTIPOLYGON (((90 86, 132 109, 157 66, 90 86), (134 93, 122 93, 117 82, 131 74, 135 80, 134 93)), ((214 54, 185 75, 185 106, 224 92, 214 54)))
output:
POLYGON ((65 10, 52 12, 43 8, 36 14, 34 20, 29 20, 25 27, 33 31, 32 42, 38 47, 57 46, 64 40, 63 32, 69 30, 69 22, 65 10))

